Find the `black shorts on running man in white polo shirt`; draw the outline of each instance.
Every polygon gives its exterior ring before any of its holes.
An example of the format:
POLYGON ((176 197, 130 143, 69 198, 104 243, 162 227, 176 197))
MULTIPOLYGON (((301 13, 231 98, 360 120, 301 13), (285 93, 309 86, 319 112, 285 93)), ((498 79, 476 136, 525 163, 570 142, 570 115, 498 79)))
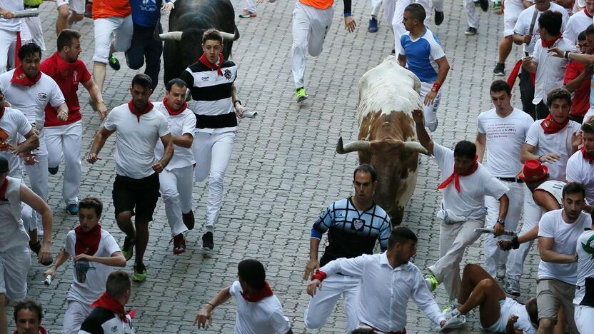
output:
POLYGON ((131 211, 136 219, 153 221, 153 212, 161 196, 158 188, 158 173, 139 179, 116 175, 111 191, 116 218, 124 211, 131 211))

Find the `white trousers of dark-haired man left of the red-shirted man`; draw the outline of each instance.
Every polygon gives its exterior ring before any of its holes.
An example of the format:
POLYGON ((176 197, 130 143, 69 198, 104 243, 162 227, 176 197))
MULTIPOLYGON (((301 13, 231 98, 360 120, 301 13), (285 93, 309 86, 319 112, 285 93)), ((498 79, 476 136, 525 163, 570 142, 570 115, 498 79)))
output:
MULTIPOLYGON (((47 172, 47 147, 45 140, 45 129, 39 132, 39 148, 33 151, 37 155, 36 160, 39 161, 34 165, 25 165, 29 182, 31 183, 31 190, 41 197, 47 203, 48 195, 48 172, 47 172)), ((44 225, 41 223, 41 214, 35 212, 35 219, 37 225, 37 235, 44 235, 44 225)), ((29 227, 30 228, 30 227, 29 227)))

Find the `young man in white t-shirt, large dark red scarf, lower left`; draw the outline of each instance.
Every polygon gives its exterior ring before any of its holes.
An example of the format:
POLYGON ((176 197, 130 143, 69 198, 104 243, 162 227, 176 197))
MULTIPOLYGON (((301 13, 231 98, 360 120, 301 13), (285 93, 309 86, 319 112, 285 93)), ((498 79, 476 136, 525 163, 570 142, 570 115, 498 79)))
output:
POLYGON ((79 333, 93 310, 91 304, 103 294, 112 267, 126 266, 116 239, 99 225, 102 212, 99 198, 87 197, 79 202, 80 225, 68 233, 54 264, 44 273, 55 278, 59 266, 71 256, 74 259, 62 334, 79 333))

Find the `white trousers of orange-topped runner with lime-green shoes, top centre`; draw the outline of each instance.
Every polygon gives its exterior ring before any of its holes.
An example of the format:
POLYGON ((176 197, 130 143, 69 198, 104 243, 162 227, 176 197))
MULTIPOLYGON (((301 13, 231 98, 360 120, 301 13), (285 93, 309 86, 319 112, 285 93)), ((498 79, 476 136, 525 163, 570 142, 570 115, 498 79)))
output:
POLYGON ((301 1, 296 1, 293 10, 293 56, 291 59, 295 88, 304 86, 306 49, 311 56, 317 57, 321 54, 333 15, 333 6, 327 9, 317 9, 302 4, 301 1))

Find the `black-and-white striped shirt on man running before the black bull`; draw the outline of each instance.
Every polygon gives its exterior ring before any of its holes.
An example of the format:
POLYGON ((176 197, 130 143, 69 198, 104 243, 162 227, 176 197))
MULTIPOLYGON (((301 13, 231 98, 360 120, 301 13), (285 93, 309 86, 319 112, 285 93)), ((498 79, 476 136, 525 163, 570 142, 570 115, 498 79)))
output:
POLYGON ((208 69, 200 61, 183 71, 180 79, 186 81, 192 100, 190 107, 196 113, 196 131, 223 133, 237 130, 237 118, 231 101, 233 82, 237 78, 237 65, 223 62, 223 76, 216 69, 208 69))

